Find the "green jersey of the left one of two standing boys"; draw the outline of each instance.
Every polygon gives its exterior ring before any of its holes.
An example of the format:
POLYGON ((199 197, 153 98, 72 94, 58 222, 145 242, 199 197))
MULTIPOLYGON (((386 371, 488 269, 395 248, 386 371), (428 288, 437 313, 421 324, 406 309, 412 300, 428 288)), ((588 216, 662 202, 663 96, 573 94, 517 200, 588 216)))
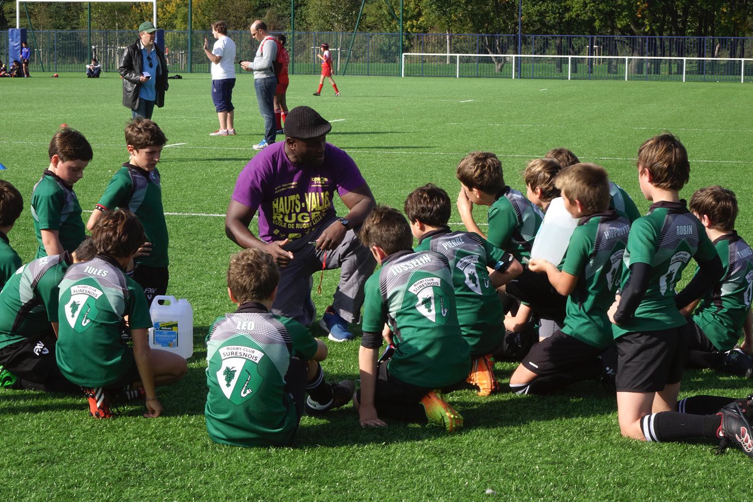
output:
POLYGON ((35 258, 47 256, 42 244, 42 230, 57 230, 57 238, 65 251, 75 251, 87 237, 81 220, 81 205, 72 187, 67 186, 49 169, 34 185, 32 217, 39 246, 35 258))

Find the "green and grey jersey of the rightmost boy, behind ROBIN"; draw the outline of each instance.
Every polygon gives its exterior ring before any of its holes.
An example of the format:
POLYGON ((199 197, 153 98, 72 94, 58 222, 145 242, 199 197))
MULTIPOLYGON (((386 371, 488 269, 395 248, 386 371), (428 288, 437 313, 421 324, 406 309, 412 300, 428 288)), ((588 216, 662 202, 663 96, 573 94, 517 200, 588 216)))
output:
POLYGON ((728 351, 737 343, 751 307, 753 251, 735 230, 716 239, 714 245, 724 275, 701 300, 693 320, 716 348, 728 351))

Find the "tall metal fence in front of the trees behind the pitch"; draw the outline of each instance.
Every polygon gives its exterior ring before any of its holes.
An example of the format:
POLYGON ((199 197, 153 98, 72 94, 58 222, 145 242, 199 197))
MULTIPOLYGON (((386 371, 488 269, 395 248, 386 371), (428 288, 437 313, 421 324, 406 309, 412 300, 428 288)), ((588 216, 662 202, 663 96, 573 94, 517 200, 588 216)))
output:
MULTIPOLYGON (((238 47, 238 59, 252 59, 258 42, 250 33, 229 32, 230 38, 238 47)), ((464 76, 501 77, 505 76, 506 63, 500 58, 514 54, 530 56, 573 56, 575 63, 568 64, 562 58, 552 58, 546 71, 531 70, 525 62, 517 67, 517 78, 562 78, 562 65, 570 68, 572 74, 590 75, 589 78, 602 78, 593 68, 605 65, 605 75, 622 75, 618 59, 608 56, 629 57, 638 65, 636 75, 651 75, 652 79, 676 80, 682 72, 675 59, 700 58, 706 62, 693 63, 690 74, 701 80, 719 80, 714 75, 732 75, 738 66, 724 66, 714 60, 721 58, 753 58, 753 38, 709 38, 709 37, 617 37, 589 35, 523 35, 520 38, 521 50, 518 51, 517 35, 446 35, 446 34, 405 34, 403 47, 400 46, 398 33, 352 33, 343 32, 295 32, 288 37, 286 47, 291 54, 289 71, 291 74, 319 74, 319 60, 316 52, 319 45, 328 43, 334 59, 337 74, 348 75, 401 75, 402 53, 441 53, 445 63, 456 64, 453 54, 486 56, 491 61, 494 71, 463 71, 464 76), (502 55, 502 56, 493 56, 502 55), (583 59, 579 59, 580 57, 583 59), (651 62, 646 58, 661 58, 662 62, 651 62), (450 59, 452 62, 450 63, 450 59), (642 62, 645 61, 645 62, 642 62), (721 66, 720 66, 721 65, 721 66), (719 68, 722 68, 721 70, 719 68), (700 71, 700 73, 698 73, 700 71), (538 76, 542 75, 542 76, 538 76), (543 76, 550 75, 550 76, 543 76)), ((36 31, 27 32, 29 46, 32 47, 30 70, 33 71, 85 71, 90 61, 93 46, 102 62, 104 71, 117 71, 120 56, 129 44, 136 41, 137 33, 133 31, 36 31)), ((211 32, 169 31, 165 32, 165 50, 169 69, 177 72, 209 72, 209 60, 203 47, 204 38, 212 43, 211 32)), ((8 56, 8 36, 0 37, 0 54, 8 56)), ((469 65, 482 65, 481 59, 474 59, 469 65)), ((487 63, 489 64, 489 63, 487 63)), ((624 63, 622 63, 624 66, 624 63)), ((538 66, 543 68, 540 64, 538 66)), ((507 65, 511 68, 511 65, 507 65)), ((743 69, 742 71, 747 71, 743 69)), ((453 69, 443 68, 435 71, 436 75, 449 72, 455 76, 453 69)), ((567 71, 565 71, 565 74, 567 71)), ((739 75, 737 73, 736 75, 739 75)), ((604 77, 607 78, 607 77, 604 77)), ((609 77, 611 78, 611 77, 609 77)))

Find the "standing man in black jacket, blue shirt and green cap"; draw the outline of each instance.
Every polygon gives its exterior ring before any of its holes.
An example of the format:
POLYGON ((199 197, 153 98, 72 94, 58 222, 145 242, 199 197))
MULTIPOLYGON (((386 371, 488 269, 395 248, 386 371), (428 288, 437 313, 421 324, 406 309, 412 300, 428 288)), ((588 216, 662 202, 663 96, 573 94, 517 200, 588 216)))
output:
POLYGON ((167 90, 167 61, 165 52, 154 43, 154 24, 139 26, 139 40, 126 47, 117 71, 123 77, 123 106, 130 108, 135 118, 151 119, 154 105, 165 105, 167 90))

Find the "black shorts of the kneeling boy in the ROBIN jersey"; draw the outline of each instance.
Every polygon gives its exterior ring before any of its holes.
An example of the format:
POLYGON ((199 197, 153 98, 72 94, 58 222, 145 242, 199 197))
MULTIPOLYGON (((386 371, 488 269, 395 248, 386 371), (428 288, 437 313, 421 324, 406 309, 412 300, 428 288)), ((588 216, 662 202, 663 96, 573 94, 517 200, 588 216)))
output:
POLYGON ((617 342, 617 392, 658 392, 682 379, 684 327, 626 333, 617 342))

